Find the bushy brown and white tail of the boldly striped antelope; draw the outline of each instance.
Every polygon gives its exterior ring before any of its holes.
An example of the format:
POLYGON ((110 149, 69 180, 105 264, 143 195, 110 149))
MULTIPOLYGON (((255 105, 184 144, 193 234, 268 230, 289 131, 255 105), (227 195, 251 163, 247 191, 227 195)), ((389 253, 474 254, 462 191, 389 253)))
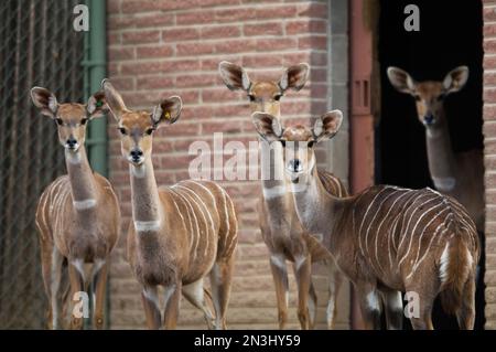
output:
POLYGON ((466 244, 454 235, 446 243, 440 260, 441 303, 449 314, 455 314, 462 305, 462 295, 473 267, 473 257, 466 244))

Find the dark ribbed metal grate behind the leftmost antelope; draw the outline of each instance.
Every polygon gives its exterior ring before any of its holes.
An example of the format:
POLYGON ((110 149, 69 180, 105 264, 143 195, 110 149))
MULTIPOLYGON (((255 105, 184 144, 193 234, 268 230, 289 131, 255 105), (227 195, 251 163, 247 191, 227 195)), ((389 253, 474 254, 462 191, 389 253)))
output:
POLYGON ((45 327, 46 298, 34 213, 40 194, 65 173, 56 128, 34 109, 30 89, 83 102, 84 1, 0 1, 0 329, 45 327))

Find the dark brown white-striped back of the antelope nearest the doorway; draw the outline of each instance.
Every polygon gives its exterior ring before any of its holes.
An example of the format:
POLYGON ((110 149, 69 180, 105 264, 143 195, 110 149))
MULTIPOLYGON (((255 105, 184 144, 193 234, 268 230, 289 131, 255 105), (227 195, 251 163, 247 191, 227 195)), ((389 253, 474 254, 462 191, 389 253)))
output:
POLYGON ((477 232, 465 209, 431 189, 373 186, 356 196, 348 214, 358 253, 377 277, 405 281, 422 265, 438 265, 453 236, 478 258, 477 232))

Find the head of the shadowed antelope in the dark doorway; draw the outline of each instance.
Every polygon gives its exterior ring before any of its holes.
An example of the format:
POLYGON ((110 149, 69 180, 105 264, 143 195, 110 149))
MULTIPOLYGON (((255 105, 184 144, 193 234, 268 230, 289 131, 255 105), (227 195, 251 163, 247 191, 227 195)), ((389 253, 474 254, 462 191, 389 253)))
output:
POLYGON ((416 99, 419 120, 425 127, 443 122, 444 98, 462 89, 468 79, 467 66, 454 68, 442 82, 416 82, 406 71, 398 67, 389 67, 387 73, 389 82, 398 92, 410 94, 416 99))

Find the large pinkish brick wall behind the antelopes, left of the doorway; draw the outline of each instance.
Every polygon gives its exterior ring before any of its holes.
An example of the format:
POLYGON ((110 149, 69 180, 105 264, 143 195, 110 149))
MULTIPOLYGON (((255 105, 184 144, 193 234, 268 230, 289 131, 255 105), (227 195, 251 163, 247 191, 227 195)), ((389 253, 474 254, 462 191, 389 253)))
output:
MULTIPOLYGON (((311 64, 311 82, 283 99, 282 114, 306 118, 327 107, 327 2, 255 0, 109 0, 108 74, 131 108, 150 108, 161 97, 180 95, 181 120, 154 138, 153 162, 160 185, 188 178, 187 154, 195 140, 212 142, 224 132, 224 142, 257 140, 242 94, 229 92, 217 73, 222 60, 257 68, 274 79, 281 67, 311 64)), ((256 78, 257 73, 250 72, 256 78)), ((130 217, 128 166, 120 156, 114 121, 110 135, 110 178, 123 210, 123 228, 130 217)), ((320 160, 326 160, 324 149, 320 160)), ((257 181, 223 182, 234 198, 239 217, 239 247, 228 310, 230 328, 277 327, 276 297, 268 252, 258 230, 257 181)), ((143 328, 139 287, 125 262, 126 232, 114 254, 111 268, 111 327, 143 328)), ((290 275, 291 326, 295 319, 295 291, 290 275)), ((321 291, 322 277, 316 280, 321 291)), ((346 291, 346 289, 345 289, 346 291)), ((341 296, 339 323, 347 320, 346 294, 341 296)), ((320 295, 320 303, 324 296, 320 295)), ((323 321, 321 307, 320 320, 323 321)), ((183 301, 180 326, 204 328, 201 313, 183 301)))

